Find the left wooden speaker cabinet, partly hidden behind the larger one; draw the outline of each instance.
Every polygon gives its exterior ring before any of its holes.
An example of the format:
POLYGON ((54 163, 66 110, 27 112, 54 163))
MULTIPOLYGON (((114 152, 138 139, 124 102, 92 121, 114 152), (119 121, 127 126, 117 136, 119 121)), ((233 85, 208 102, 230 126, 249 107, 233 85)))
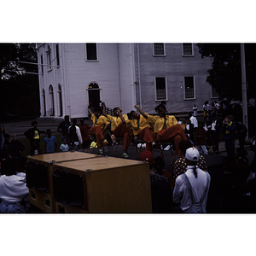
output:
POLYGON ((39 166, 46 166, 48 190, 29 189, 29 200, 32 206, 37 207, 43 212, 56 212, 52 185, 53 163, 90 159, 97 157, 96 154, 86 154, 83 152, 61 152, 54 154, 38 154, 27 156, 27 164, 34 163, 39 166))

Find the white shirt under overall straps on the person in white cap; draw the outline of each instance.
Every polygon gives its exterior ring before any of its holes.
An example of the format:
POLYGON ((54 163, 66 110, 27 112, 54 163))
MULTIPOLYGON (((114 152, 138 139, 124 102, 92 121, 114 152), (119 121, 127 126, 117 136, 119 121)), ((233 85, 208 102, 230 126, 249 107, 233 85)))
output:
MULTIPOLYGON (((202 171, 200 168, 196 168, 197 177, 195 177, 193 173, 194 166, 187 166, 187 172, 186 175, 189 178, 189 182, 191 183, 191 187, 193 190, 193 195, 195 198, 195 201, 198 202, 201 199, 201 196, 203 195, 206 187, 207 187, 207 176, 210 176, 208 172, 202 171)), ((202 207, 206 209, 207 207, 207 196, 210 188, 210 183, 207 188, 207 195, 205 196, 204 201, 202 202, 202 207)), ((182 210, 189 209, 189 207, 192 206, 192 201, 189 198, 189 189, 183 183, 183 178, 179 175, 176 179, 173 195, 172 195, 173 201, 175 203, 180 203, 180 207, 182 210)))

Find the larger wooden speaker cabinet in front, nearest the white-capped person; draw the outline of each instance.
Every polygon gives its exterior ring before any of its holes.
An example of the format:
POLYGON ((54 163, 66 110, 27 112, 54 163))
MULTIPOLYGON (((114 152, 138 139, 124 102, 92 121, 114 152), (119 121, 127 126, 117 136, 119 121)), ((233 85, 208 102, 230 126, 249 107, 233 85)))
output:
MULTIPOLYGON (((55 163, 53 167, 55 173, 80 177, 84 193, 82 206, 73 207, 59 201, 57 212, 152 212, 148 163, 102 157, 55 163)), ((56 183, 54 180, 53 186, 63 183, 66 183, 65 193, 72 196, 72 184, 67 180, 60 178, 56 183)), ((59 192, 57 187, 54 189, 59 192)))

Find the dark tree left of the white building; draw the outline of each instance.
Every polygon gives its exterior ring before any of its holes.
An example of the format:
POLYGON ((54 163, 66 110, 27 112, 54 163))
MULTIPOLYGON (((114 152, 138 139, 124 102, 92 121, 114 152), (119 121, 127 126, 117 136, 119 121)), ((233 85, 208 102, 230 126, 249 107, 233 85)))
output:
POLYGON ((0 44, 0 116, 38 116, 38 66, 36 44, 0 44))

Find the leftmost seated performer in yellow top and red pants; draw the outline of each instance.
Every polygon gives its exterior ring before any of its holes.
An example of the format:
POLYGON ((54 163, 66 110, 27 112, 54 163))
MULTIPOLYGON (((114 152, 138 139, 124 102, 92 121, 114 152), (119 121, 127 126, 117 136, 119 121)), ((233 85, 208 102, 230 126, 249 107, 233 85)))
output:
POLYGON ((94 113, 92 113, 92 111, 89 108, 89 113, 91 115, 90 119, 93 122, 93 125, 90 128, 90 135, 96 137, 96 143, 97 147, 99 148, 99 153, 103 154, 102 140, 103 143, 108 143, 102 131, 105 128, 105 126, 108 125, 107 119, 104 116, 102 116, 102 110, 100 108, 95 108, 94 113))

